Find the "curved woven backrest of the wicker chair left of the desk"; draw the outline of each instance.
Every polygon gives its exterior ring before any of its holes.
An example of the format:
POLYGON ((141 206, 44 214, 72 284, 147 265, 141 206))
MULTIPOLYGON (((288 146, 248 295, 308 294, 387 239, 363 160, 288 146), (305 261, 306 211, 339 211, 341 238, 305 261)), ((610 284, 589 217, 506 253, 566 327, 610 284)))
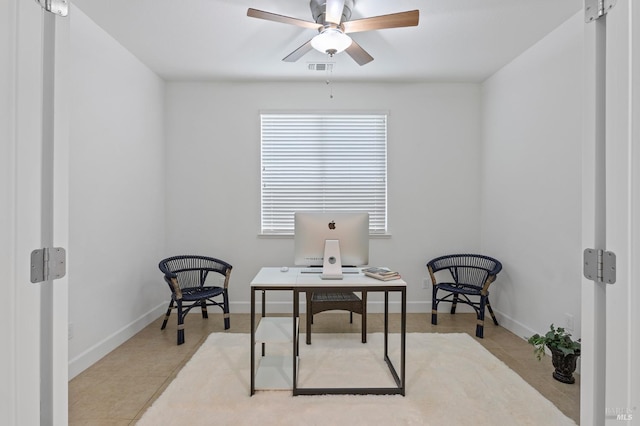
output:
POLYGON ((160 261, 158 267, 172 291, 174 291, 171 284, 173 278, 177 280, 181 289, 201 287, 205 284, 209 272, 222 274, 225 277, 224 288, 227 288, 233 268, 223 260, 195 255, 169 257, 160 261))

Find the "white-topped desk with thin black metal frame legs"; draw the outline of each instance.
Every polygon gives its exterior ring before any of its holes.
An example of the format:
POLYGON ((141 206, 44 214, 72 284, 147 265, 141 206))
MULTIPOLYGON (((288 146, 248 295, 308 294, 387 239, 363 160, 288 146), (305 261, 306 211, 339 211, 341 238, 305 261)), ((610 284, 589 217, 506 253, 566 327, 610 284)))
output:
POLYGON ((268 366, 273 367, 276 377, 280 381, 279 388, 292 389, 293 395, 320 395, 320 394, 405 394, 405 349, 406 349, 406 325, 407 325, 407 283, 402 280, 380 281, 365 276, 364 274, 345 274, 342 280, 323 280, 319 274, 302 273, 300 268, 290 268, 287 272, 281 272, 280 268, 262 268, 251 282, 251 391, 253 395, 256 390, 256 341, 263 342, 262 356, 265 356, 265 339, 275 339, 269 341, 283 341, 290 339, 292 344, 292 356, 284 361, 269 361, 268 366), (330 290, 332 292, 352 292, 352 291, 381 291, 384 292, 384 359, 393 375, 396 387, 388 388, 299 388, 298 376, 298 345, 299 345, 299 302, 300 292, 313 292, 330 290), (262 320, 265 326, 256 330, 255 308, 256 291, 262 292, 262 320), (267 291, 292 291, 293 292, 293 317, 283 319, 273 317, 266 321, 265 299, 267 291), (400 374, 396 371, 388 356, 388 334, 389 334, 389 292, 399 292, 401 296, 401 319, 400 319, 400 374), (289 322, 291 333, 286 330, 286 322, 289 322), (256 335, 258 339, 256 339, 256 335), (277 337, 280 336, 280 337, 277 337), (278 340, 279 339, 279 340, 278 340), (286 369, 286 363, 291 365, 291 373, 286 369), (283 364, 284 363, 284 364, 283 364), (286 371, 285 371, 286 370, 286 371), (286 376, 283 374, 286 373, 286 376))

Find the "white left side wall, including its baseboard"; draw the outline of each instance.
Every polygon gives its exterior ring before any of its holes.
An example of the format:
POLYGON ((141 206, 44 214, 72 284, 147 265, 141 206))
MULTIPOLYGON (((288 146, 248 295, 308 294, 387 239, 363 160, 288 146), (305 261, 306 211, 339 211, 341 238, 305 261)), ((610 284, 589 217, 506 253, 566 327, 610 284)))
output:
POLYGON ((75 8, 71 19, 71 377, 165 309, 164 82, 75 8))

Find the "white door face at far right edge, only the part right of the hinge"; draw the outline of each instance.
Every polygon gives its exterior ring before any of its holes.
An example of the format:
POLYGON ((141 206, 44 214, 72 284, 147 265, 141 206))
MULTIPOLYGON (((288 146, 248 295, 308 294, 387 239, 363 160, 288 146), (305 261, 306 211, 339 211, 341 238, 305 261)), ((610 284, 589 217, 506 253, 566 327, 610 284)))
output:
POLYGON ((607 424, 640 424, 640 4, 607 14, 607 249, 618 257, 607 289, 607 424))

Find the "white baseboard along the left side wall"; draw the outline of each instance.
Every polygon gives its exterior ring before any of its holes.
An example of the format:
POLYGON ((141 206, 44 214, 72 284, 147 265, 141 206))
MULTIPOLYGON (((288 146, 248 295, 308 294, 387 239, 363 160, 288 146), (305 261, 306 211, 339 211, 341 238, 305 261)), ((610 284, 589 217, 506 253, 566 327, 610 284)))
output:
POLYGON ((80 355, 69 360, 69 380, 82 373, 87 368, 98 362, 106 354, 129 340, 140 330, 157 320, 159 316, 165 313, 167 304, 162 303, 150 311, 138 317, 136 320, 125 325, 112 335, 106 337, 102 341, 96 343, 80 355))

